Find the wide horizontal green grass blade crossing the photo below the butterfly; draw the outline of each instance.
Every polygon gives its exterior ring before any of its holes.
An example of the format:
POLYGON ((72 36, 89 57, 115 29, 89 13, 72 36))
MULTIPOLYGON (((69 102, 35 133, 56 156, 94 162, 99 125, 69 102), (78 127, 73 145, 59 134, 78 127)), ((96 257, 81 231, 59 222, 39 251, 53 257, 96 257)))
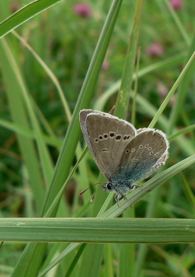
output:
POLYGON ((195 219, 183 218, 2 218, 0 230, 3 241, 195 242, 195 219))

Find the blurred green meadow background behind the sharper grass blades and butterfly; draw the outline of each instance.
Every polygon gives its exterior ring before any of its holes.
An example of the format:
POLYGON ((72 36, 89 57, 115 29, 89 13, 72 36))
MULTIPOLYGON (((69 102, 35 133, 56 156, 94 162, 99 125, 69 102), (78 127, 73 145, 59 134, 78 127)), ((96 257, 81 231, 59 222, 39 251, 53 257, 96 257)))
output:
MULTIPOLYGON (((30 2, 29 0, 0 0, 0 21, 5 20, 30 2)), ((110 6, 111 1, 108 0, 89 0, 84 3, 63 0, 15 29, 17 34, 33 48, 55 74, 71 113, 75 109, 110 6)), ((123 0, 122 2, 90 108, 100 107, 108 112, 116 103, 116 92, 119 89, 118 82, 124 68, 135 6, 136 1, 123 0), (113 92, 108 98, 104 98, 108 95, 109 90, 113 92)), ((52 163, 55 165, 69 125, 67 110, 64 110, 57 88, 50 76, 24 43, 14 34, 8 34, 5 38, 19 66, 24 84, 32 97, 31 100, 33 99, 32 102, 36 103, 34 107, 42 132, 50 138, 49 143, 46 144, 52 163)), ((147 127, 150 124, 156 110, 195 50, 193 42, 195 42, 194 0, 144 1, 138 42, 140 59, 136 128, 147 127)), ((5 64, 1 60, 1 72, 4 66, 5 64)), ((192 64, 190 74, 187 75, 185 83, 181 84, 183 85, 183 94, 179 94, 179 97, 183 97, 181 104, 176 98, 178 95, 176 91, 164 110, 161 121, 159 120, 155 126, 167 132, 168 135, 175 133, 176 130, 192 126, 191 132, 179 136, 184 140, 170 140, 170 158, 166 167, 195 153, 194 68, 195 64, 192 64), (175 119, 172 118, 174 109, 178 109, 175 119)), ((12 82, 13 80, 10 80, 10 85, 12 82)), ((133 83, 134 86, 135 83, 133 83)), ((11 127, 6 126, 6 123, 9 124, 13 121, 11 109, 18 108, 17 103, 15 107, 13 104, 10 106, 7 87, 7 81, 0 73, 0 216, 36 217, 39 216, 39 212, 35 208, 35 195, 31 190, 32 184, 29 182, 26 166, 23 163, 17 135, 11 127)), ((14 82, 12 89, 14 93, 14 82)), ((126 118, 128 121, 131 119, 131 111, 132 100, 130 100, 126 118)), ((16 124, 14 127, 25 131, 25 128, 16 124)), ((81 143, 84 145, 82 137, 81 143)), ((76 160, 75 156, 74 164, 76 160)), ((98 182, 99 171, 89 153, 87 153, 85 161, 87 161, 89 184, 94 184, 98 182)), ((41 167, 41 164, 39 166, 41 167)), ((195 210, 192 204, 195 189, 194 170, 195 167, 192 165, 158 190, 153 217, 194 218, 195 210), (187 188, 191 188, 192 191, 189 192, 187 188)), ((64 216, 76 216, 85 202, 78 197, 78 192, 82 189, 77 184, 83 185, 79 183, 79 180, 80 171, 78 170, 64 195, 67 207, 64 216), (75 193, 77 193, 76 196, 75 193)), ((147 195, 143 201, 137 203, 136 217, 146 216, 145 212, 150 197, 147 195)), ((81 216, 84 215, 85 213, 81 214, 81 216)), ((10 276, 24 245, 19 243, 5 245, 6 247, 1 248, 0 272, 2 272, 2 276, 10 276), (5 265, 7 269, 5 269, 5 265)), ((117 276, 117 250, 115 246, 113 249, 113 276, 117 276)), ((195 276, 194 245, 159 246, 154 244, 150 245, 147 253, 143 266, 144 271, 138 276, 195 276)), ((103 266, 102 264, 102 268, 103 266)), ((102 272, 101 274, 101 276, 105 276, 102 272)))

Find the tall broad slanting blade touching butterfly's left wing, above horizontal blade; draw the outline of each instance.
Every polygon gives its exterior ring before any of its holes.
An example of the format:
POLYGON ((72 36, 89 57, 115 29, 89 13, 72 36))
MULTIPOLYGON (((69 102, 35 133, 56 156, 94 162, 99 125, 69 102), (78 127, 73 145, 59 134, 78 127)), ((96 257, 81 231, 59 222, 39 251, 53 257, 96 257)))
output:
POLYGON ((74 158, 78 139, 81 133, 78 122, 79 111, 82 108, 89 107, 91 99, 93 98, 94 88, 98 80, 98 74, 100 72, 101 64, 103 63, 110 37, 112 35, 113 28, 117 20, 117 14, 120 8, 120 4, 121 1, 115 0, 113 2, 112 8, 110 9, 107 20, 100 34, 97 47, 95 49, 91 64, 89 65, 86 78, 78 97, 78 102, 73 113, 72 121, 67 130, 63 146, 59 154, 59 159, 54 171, 51 187, 48 192, 46 202, 44 204, 43 214, 45 213, 45 211, 47 211, 50 204, 53 202, 64 180, 68 176, 70 166, 74 158))

